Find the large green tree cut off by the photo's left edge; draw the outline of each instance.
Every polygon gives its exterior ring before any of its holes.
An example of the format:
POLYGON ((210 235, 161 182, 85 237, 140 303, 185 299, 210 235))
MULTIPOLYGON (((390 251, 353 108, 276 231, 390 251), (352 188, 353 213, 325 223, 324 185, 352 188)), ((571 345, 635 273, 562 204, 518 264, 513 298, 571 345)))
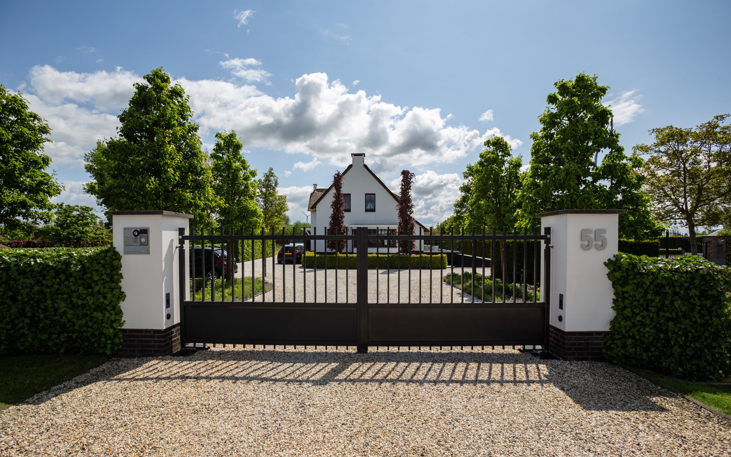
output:
POLYGON ((21 219, 48 222, 50 199, 64 189, 56 172, 45 171, 51 162, 43 154, 49 133, 48 124, 28 109, 22 94, 0 85, 0 224, 6 230, 25 227, 21 219))

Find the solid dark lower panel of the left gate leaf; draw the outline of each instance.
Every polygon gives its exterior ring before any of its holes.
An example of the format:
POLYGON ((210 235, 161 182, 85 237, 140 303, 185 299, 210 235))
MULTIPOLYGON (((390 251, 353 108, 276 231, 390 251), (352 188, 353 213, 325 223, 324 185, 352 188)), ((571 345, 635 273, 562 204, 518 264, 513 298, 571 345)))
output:
POLYGON ((354 306, 318 303, 226 304, 185 302, 186 343, 328 344, 355 346, 354 306), (284 306, 283 306, 284 305, 284 306))

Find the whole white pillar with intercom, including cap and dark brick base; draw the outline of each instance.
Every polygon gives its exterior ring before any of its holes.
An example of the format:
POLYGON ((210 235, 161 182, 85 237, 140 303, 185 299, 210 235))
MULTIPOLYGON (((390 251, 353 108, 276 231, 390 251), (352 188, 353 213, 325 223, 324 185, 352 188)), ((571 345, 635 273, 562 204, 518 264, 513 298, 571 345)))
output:
MULTIPOLYGON (((122 256, 124 341, 119 355, 167 355, 180 349, 178 228, 190 214, 109 211, 113 244, 122 256)), ((186 256, 186 278, 189 259, 186 256)))

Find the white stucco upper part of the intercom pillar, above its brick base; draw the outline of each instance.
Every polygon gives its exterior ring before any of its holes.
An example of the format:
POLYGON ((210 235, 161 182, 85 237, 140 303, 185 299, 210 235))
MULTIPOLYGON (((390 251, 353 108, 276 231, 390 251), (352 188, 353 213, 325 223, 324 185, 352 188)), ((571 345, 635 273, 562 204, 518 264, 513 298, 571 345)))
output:
MULTIPOLYGON (((122 256, 121 287, 126 298, 122 328, 164 330, 180 322, 178 227, 189 233, 192 216, 170 211, 110 211, 114 247, 122 256), (143 213, 148 214, 143 214, 143 213), (137 213, 137 214, 135 214, 137 213), (124 228, 148 228, 149 254, 124 253, 124 228), (170 308, 166 308, 166 294, 170 308), (170 314, 170 318, 167 317, 170 314)), ((185 257, 186 284, 189 257, 185 257)))

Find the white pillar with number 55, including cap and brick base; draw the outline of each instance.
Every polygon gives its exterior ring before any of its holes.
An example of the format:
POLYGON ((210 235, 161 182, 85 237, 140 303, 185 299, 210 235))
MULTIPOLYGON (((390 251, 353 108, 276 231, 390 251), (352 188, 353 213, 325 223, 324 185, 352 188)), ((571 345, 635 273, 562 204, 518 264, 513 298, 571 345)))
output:
MULTIPOLYGON (((604 337, 615 316, 614 291, 604 263, 618 252, 619 214, 624 212, 537 214, 543 233, 550 227, 549 350, 561 358, 602 359, 604 337)), ((545 277, 541 284, 544 281, 545 277)))

